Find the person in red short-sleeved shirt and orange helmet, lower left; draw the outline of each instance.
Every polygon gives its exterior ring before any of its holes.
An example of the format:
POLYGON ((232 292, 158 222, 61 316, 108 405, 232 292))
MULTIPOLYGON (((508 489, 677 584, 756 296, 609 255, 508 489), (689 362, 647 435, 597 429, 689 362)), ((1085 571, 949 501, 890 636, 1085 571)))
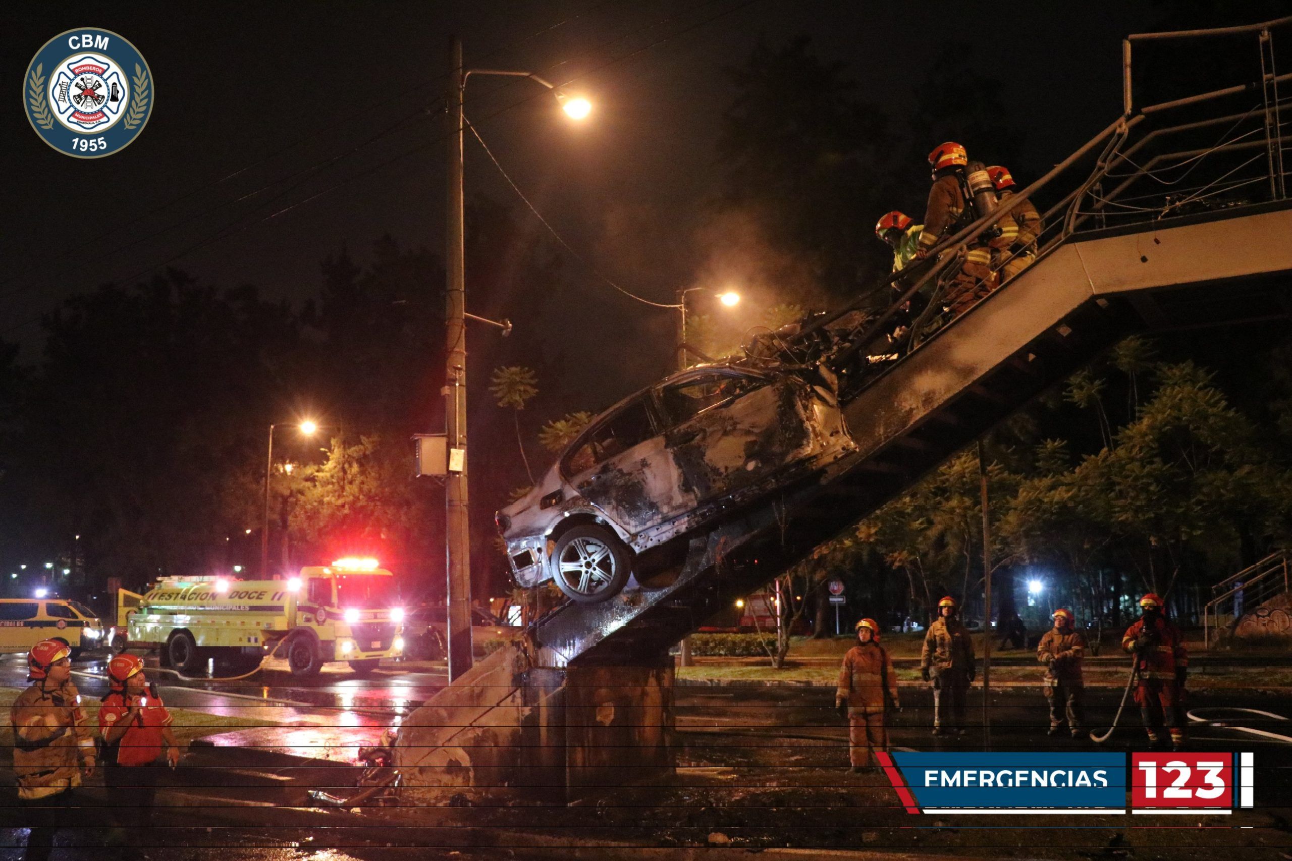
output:
POLYGON ((155 767, 174 768, 182 750, 171 729, 171 712, 143 675, 143 661, 119 654, 107 663, 107 681, 110 690, 98 710, 103 782, 116 790, 121 807, 136 811, 134 825, 150 825, 158 785, 155 767))

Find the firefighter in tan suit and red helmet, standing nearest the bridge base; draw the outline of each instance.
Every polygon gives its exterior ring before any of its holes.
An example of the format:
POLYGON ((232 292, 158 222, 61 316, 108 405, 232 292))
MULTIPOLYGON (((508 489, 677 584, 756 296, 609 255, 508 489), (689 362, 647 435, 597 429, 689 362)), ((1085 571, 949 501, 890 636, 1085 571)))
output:
POLYGON ((848 719, 848 758, 851 773, 879 765, 876 750, 888 750, 884 715, 898 708, 897 674, 893 659, 880 645, 880 626, 875 619, 857 623, 857 645, 844 655, 839 671, 835 708, 848 719))

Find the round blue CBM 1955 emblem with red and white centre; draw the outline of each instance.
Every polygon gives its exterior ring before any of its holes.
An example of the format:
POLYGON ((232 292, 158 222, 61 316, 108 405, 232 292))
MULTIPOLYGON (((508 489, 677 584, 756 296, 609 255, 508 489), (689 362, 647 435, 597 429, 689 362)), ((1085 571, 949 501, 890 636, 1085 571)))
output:
POLYGON ((134 142, 152 114, 152 72, 110 30, 61 32, 31 58, 23 103, 36 134, 59 153, 99 159, 134 142))

